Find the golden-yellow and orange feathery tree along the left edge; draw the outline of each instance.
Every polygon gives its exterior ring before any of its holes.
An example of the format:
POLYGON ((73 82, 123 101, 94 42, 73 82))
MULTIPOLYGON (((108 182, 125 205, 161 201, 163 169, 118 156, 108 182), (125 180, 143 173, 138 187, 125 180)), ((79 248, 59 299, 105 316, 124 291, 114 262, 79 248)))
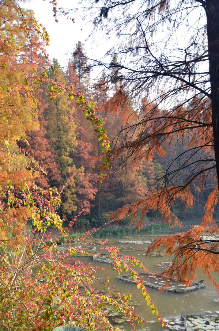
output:
POLYGON ((20 198, 38 175, 17 140, 39 128, 33 76, 48 35, 16 1, 0 4, 0 242, 15 247, 25 240, 33 207, 20 198))

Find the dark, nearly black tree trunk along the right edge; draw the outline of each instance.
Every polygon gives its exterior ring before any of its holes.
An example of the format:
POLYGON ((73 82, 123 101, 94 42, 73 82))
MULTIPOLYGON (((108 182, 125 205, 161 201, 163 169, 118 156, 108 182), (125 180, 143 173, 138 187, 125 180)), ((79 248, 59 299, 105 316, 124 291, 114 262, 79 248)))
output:
POLYGON ((219 186, 219 0, 206 0, 212 126, 217 182, 219 186))

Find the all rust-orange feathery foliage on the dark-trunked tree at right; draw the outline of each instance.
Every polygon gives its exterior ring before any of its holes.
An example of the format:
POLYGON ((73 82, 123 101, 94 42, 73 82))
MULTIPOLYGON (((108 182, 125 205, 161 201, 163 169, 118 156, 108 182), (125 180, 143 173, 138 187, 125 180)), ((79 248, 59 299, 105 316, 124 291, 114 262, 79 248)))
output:
MULTIPOLYGON (((114 158, 119 158, 121 154, 125 155, 126 165, 141 164, 142 161, 150 162, 155 155, 165 157, 164 143, 170 146, 173 141, 179 141, 184 145, 185 150, 186 147, 188 151, 201 150, 201 156, 206 160, 203 163, 202 160, 194 163, 197 164, 194 166, 194 172, 187 174, 187 178, 176 185, 168 185, 167 178, 165 185, 161 188, 154 187, 152 192, 145 192, 145 196, 135 204, 108 213, 111 219, 123 218, 130 214, 131 223, 140 214, 136 224, 137 230, 143 228, 144 216, 149 211, 158 212, 164 224, 180 227, 181 221, 172 211, 174 203, 181 201, 185 208, 193 208, 196 198, 191 190, 192 185, 194 185, 194 191, 200 193, 205 188, 206 181, 213 178, 211 183, 213 182, 215 187, 207 197, 201 225, 192 226, 189 231, 180 234, 162 235, 153 241, 147 251, 149 254, 156 249, 165 249, 166 253, 172 257, 173 263, 163 273, 167 279, 166 287, 169 286, 173 277, 181 283, 191 284, 197 276, 197 269, 201 268, 204 275, 219 291, 219 285, 212 277, 212 272, 219 272, 219 241, 215 239, 216 237, 214 240, 202 239, 204 234, 218 233, 218 226, 214 220, 214 206, 219 202, 219 192, 215 174, 212 171, 215 166, 212 162, 214 150, 210 110, 207 98, 193 98, 188 108, 179 105, 171 110, 162 111, 155 104, 150 104, 144 99, 142 119, 133 125, 129 135, 126 134, 125 139, 115 144, 112 149, 114 158)), ((124 132, 122 136, 124 137, 124 132)), ((186 162, 183 164, 185 167, 186 162)), ((177 172, 180 169, 174 171, 177 172)))

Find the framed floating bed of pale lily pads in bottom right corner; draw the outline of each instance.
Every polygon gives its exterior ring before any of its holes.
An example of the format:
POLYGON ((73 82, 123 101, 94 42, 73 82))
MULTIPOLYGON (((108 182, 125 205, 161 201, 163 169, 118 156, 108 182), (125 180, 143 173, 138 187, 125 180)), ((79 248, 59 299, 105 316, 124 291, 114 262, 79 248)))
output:
POLYGON ((186 331, 219 330, 219 315, 201 313, 200 311, 182 311, 186 331))

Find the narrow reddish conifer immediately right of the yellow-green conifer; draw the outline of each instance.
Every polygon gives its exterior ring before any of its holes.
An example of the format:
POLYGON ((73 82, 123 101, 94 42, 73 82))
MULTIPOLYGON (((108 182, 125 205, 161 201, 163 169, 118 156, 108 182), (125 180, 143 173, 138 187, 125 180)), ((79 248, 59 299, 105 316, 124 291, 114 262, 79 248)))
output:
MULTIPOLYGON (((85 98, 91 98, 87 87, 89 85, 89 74, 86 72, 85 49, 81 42, 75 46, 72 58, 68 63, 66 80, 72 85, 75 91, 84 91, 85 98)), ((96 135, 94 134, 88 121, 84 120, 82 112, 76 108, 74 103, 73 118, 75 121, 75 132, 77 145, 74 152, 74 163, 80 169, 77 176, 76 205, 78 209, 84 209, 84 214, 88 214, 94 206, 94 199, 97 192, 97 173, 94 156, 96 135)))

